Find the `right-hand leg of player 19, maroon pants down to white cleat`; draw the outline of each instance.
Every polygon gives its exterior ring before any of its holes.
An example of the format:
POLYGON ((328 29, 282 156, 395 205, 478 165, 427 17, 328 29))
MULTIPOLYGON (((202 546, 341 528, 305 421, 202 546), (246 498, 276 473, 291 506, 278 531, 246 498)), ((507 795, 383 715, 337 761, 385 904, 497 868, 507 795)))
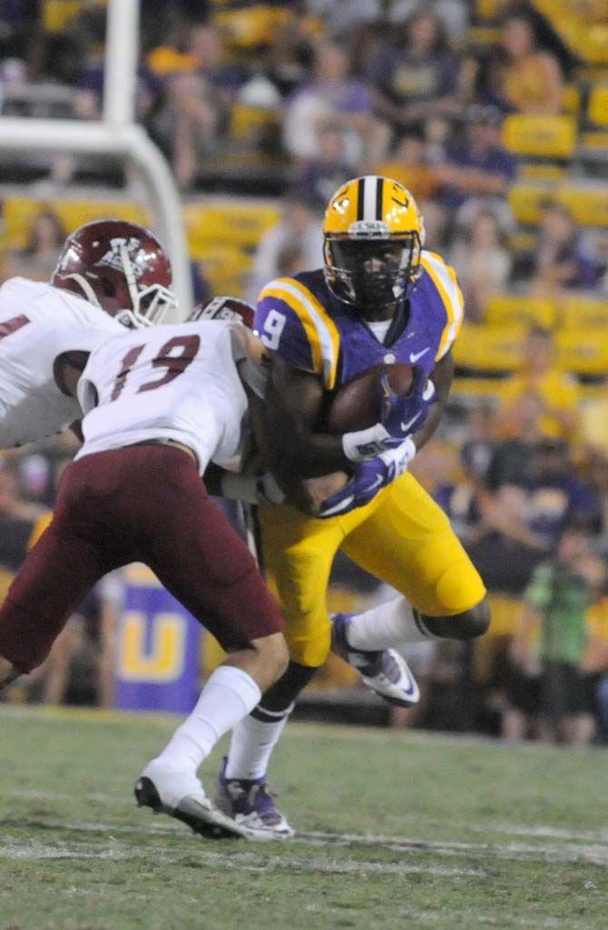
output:
POLYGON ((246 835, 245 828, 213 808, 197 773, 218 739, 283 673, 283 618, 245 543, 207 497, 188 458, 174 456, 171 482, 147 491, 145 523, 156 532, 141 538, 141 557, 214 634, 227 658, 190 716, 145 767, 136 795, 139 804, 178 817, 205 835, 246 835))

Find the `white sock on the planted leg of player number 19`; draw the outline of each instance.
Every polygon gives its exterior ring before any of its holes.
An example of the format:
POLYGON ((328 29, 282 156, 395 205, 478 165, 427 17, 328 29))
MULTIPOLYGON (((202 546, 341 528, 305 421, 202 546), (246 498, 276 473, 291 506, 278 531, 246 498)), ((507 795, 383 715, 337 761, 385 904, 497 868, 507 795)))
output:
POLYGON ((195 774, 219 737, 253 711, 260 697, 251 675, 233 665, 220 665, 205 684, 190 717, 156 761, 166 769, 195 774))

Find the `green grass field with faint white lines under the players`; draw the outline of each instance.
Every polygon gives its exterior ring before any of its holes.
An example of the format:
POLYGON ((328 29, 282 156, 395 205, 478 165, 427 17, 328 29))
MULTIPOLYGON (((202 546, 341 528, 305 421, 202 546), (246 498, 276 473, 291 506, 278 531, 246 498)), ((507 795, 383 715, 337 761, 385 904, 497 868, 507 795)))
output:
POLYGON ((608 928, 608 752, 294 725, 297 839, 211 843, 132 802, 174 725, 0 708, 0 930, 608 928))

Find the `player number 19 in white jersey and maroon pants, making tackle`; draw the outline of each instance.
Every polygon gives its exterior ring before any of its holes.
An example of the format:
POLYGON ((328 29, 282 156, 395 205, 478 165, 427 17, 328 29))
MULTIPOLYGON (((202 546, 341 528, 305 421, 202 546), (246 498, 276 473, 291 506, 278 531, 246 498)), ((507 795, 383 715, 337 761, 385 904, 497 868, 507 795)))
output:
POLYGON ((278 604, 202 480, 210 461, 240 467, 261 351, 241 323, 213 321, 112 337, 82 377, 64 365, 84 445, 0 608, 0 686, 40 665, 86 591, 131 562, 149 565, 216 636, 224 664, 136 786, 139 804, 205 835, 249 835, 214 808, 197 771, 287 664, 278 604))

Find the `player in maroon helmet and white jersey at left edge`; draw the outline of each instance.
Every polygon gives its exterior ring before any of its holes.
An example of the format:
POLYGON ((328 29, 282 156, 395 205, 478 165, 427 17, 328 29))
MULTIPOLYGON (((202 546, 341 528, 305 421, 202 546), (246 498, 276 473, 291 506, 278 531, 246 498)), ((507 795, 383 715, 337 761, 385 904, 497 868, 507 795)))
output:
POLYGON ((0 447, 35 442, 80 419, 61 368, 124 326, 150 326, 176 306, 163 247, 134 223, 87 223, 66 240, 50 284, 0 287, 0 447), (121 324, 123 326, 121 326, 121 324))

